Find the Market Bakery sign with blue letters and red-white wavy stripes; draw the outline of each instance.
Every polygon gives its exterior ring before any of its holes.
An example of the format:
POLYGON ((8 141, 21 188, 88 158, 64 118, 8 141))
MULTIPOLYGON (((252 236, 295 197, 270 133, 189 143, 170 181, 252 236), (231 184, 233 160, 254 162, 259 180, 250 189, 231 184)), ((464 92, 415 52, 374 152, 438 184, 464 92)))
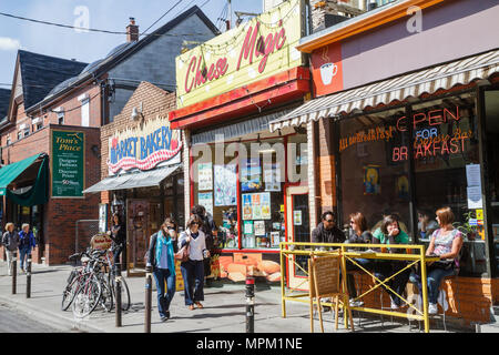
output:
POLYGON ((181 149, 181 132, 171 130, 169 120, 157 116, 109 139, 109 174, 114 175, 121 170, 154 169, 177 158, 181 149))

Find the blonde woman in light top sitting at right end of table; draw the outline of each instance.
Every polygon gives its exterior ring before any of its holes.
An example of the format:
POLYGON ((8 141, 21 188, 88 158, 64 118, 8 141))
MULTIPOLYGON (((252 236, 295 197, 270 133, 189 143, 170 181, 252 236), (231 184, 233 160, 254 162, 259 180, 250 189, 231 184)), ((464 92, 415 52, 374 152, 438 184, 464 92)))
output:
MULTIPOLYGON (((438 255, 439 262, 428 264, 427 284, 428 284, 428 313, 437 314, 437 301, 441 281, 446 276, 454 274, 455 268, 459 267, 458 255, 462 247, 464 235, 452 225, 454 213, 450 207, 444 207, 437 211, 437 222, 440 229, 436 230, 430 237, 430 243, 426 255, 438 255)), ((413 273, 410 282, 418 286, 421 294, 421 276, 413 273)))

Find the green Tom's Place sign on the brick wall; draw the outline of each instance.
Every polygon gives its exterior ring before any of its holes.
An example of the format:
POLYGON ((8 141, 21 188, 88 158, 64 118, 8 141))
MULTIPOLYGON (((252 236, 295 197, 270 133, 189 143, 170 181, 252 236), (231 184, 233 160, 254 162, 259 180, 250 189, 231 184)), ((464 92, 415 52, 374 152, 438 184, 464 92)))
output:
POLYGON ((52 131, 52 197, 82 197, 85 133, 52 131))

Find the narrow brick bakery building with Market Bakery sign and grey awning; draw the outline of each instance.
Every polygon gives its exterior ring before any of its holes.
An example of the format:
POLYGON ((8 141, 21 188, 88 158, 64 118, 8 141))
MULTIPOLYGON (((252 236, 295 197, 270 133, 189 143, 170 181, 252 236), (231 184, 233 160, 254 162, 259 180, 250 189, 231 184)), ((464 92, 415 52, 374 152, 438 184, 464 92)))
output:
POLYGON ((101 129, 101 181, 84 193, 100 197, 105 229, 113 212, 126 221, 122 263, 129 275, 143 274, 149 237, 165 216, 180 226, 185 222, 183 140, 180 131, 170 130, 167 120, 175 105, 174 92, 142 82, 122 112, 101 129))

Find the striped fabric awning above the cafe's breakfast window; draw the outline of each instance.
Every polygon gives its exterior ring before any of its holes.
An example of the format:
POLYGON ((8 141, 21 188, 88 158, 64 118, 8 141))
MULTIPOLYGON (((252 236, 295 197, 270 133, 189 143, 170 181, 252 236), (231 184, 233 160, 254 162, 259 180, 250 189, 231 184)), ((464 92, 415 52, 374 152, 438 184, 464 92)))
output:
POLYGON ((448 90, 455 85, 469 84, 488 79, 499 72, 499 50, 460 59, 361 88, 338 92, 310 100, 293 112, 269 123, 271 132, 286 126, 298 126, 310 120, 352 113, 354 110, 387 105, 424 93, 448 90))

